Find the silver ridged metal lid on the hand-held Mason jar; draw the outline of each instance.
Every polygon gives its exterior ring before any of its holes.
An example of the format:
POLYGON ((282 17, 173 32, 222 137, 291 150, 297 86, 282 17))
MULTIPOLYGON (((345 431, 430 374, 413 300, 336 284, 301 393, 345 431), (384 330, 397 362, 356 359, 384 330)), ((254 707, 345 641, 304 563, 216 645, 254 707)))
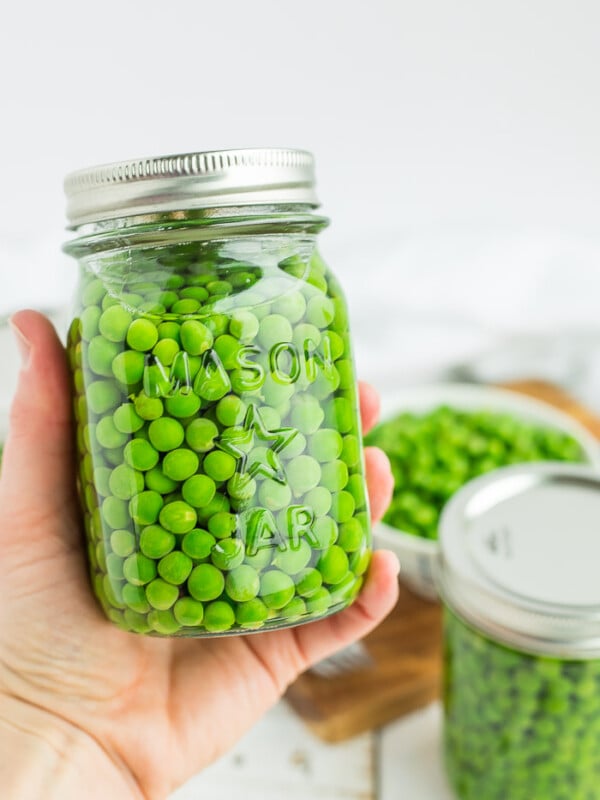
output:
POLYGON ((219 206, 318 206, 314 159, 265 147, 120 161, 67 175, 67 218, 88 222, 219 206))

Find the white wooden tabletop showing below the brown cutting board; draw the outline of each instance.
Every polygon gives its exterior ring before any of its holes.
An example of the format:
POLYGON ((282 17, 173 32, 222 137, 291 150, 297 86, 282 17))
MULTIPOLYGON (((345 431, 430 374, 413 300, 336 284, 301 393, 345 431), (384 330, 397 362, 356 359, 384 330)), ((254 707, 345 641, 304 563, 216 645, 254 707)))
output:
POLYGON ((453 800, 435 703, 340 744, 311 734, 282 701, 170 800, 453 800))

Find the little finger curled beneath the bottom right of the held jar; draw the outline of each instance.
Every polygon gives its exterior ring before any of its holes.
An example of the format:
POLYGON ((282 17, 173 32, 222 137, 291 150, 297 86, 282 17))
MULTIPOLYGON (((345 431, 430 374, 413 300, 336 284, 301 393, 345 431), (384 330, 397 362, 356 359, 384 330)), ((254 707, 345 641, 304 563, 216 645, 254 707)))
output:
POLYGON ((362 592, 350 608, 294 629, 306 668, 366 636, 398 599, 398 559, 388 550, 373 554, 362 592))

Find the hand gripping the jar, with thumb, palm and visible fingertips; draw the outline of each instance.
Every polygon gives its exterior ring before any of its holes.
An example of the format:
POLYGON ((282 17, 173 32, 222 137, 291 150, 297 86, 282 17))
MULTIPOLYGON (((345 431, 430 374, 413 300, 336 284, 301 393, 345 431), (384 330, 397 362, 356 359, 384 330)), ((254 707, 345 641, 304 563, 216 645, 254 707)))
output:
MULTIPOLYGON (((61 800, 82 787, 88 800, 159 800, 230 748, 303 670, 377 625, 396 601, 398 564, 375 553, 355 604, 310 625, 196 640, 117 629, 88 584, 64 350, 41 315, 13 323, 24 364, 0 480, 0 784, 23 752, 9 755, 3 741, 21 737, 64 778, 61 800)), ((377 397, 368 386, 360 397, 367 429, 377 397)), ((392 478, 381 451, 368 448, 366 462, 377 518, 392 478)), ((54 797, 50 778, 42 785, 23 796, 54 797)))

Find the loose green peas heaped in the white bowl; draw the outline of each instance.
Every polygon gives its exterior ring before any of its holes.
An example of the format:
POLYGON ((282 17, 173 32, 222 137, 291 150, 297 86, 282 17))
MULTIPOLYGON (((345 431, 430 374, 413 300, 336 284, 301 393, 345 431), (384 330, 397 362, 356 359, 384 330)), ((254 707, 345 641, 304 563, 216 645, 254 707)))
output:
POLYGON ((498 467, 527 461, 584 460, 579 443, 560 431, 509 414, 439 406, 381 423, 365 443, 384 450, 394 495, 383 521, 437 539, 441 511, 465 483, 498 467))

